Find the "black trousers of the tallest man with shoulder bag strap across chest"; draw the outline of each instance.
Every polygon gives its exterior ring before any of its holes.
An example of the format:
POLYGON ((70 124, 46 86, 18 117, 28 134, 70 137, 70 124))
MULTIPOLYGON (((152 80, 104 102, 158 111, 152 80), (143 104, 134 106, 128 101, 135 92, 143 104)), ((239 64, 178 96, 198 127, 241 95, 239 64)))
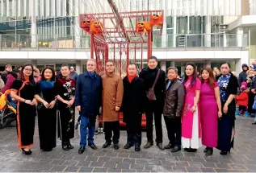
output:
POLYGON ((156 142, 162 143, 162 111, 155 101, 150 101, 145 110, 148 142, 153 142, 153 119, 155 121, 156 142))

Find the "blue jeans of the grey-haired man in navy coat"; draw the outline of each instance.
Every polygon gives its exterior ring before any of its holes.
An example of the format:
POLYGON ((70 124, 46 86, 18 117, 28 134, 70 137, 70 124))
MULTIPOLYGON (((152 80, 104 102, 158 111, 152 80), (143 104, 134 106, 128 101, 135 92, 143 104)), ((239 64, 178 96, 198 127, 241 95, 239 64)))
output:
POLYGON ((80 134, 81 134, 81 141, 80 146, 86 146, 86 129, 88 128, 88 145, 94 143, 94 132, 95 132, 95 121, 90 121, 89 117, 81 116, 81 123, 80 123, 80 134))

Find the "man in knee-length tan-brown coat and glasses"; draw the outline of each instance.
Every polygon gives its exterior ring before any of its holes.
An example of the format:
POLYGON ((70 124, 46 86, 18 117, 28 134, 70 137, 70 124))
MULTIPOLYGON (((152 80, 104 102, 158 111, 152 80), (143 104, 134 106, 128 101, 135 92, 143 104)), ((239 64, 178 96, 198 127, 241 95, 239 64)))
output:
POLYGON ((115 74, 114 61, 107 60, 106 74, 103 79, 103 123, 106 142, 103 148, 111 145, 113 140, 114 149, 119 149, 120 139, 120 116, 119 111, 123 100, 123 80, 121 76, 115 74), (113 132, 113 138, 112 138, 113 132), (111 140, 112 138, 112 140, 111 140))

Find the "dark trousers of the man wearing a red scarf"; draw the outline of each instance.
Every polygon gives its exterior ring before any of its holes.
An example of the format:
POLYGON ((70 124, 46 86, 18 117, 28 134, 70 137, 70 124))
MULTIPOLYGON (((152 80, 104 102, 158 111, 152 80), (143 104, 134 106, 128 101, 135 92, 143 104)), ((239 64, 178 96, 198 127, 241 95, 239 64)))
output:
POLYGON ((134 118, 128 118, 126 122, 127 143, 129 145, 141 146, 141 113, 133 114, 134 118), (136 115, 136 116, 135 116, 136 115), (133 121, 132 121, 133 120, 133 121))

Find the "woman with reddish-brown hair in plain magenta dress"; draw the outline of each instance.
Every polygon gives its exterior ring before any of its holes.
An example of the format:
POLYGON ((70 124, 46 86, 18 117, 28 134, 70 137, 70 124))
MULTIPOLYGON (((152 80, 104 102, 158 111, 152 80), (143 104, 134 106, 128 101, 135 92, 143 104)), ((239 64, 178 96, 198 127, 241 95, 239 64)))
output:
POLYGON ((205 156, 212 155, 218 144, 218 118, 222 117, 220 88, 211 68, 204 68, 201 75, 200 117, 202 125, 202 143, 205 156))

